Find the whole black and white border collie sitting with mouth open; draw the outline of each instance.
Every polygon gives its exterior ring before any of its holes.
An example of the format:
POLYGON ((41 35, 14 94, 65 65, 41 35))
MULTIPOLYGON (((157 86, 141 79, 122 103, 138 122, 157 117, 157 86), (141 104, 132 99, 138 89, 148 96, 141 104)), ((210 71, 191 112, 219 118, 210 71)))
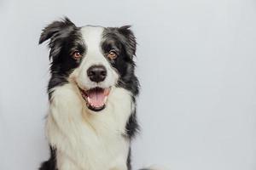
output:
POLYGON ((50 157, 40 170, 131 170, 137 133, 136 38, 130 26, 46 26, 50 157))

